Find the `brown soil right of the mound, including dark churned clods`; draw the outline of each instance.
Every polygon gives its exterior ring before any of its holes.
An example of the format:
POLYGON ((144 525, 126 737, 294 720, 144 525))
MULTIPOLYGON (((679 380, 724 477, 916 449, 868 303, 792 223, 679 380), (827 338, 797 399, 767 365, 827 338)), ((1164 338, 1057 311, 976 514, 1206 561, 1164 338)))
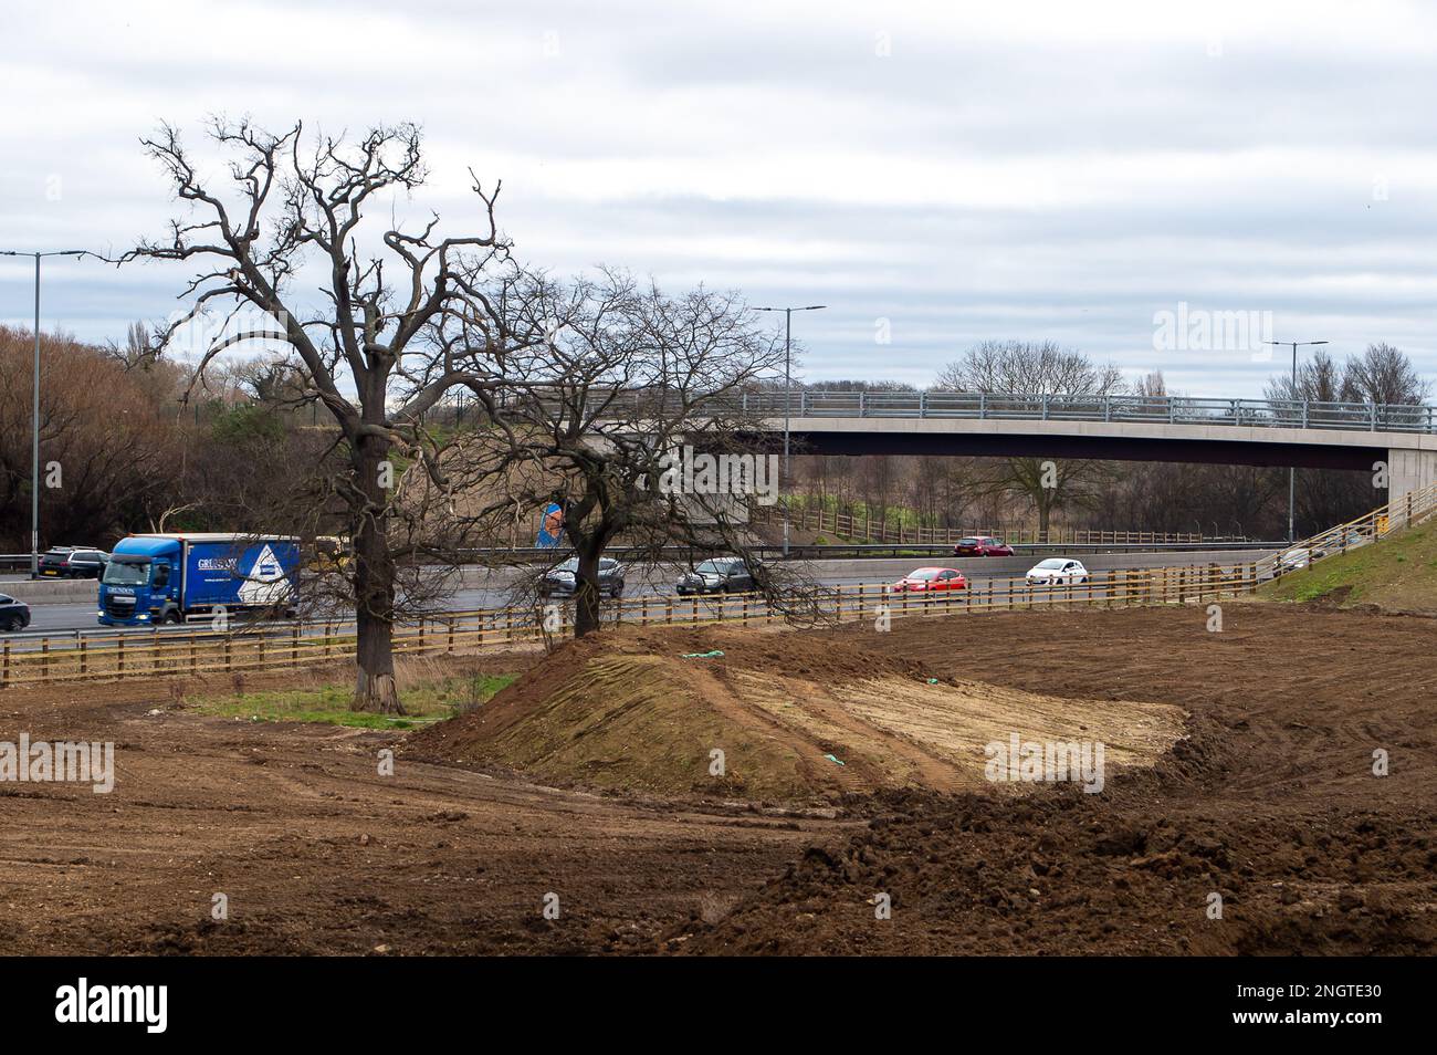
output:
POLYGON ((810 851, 717 927, 675 933, 680 947, 1431 954, 1437 621, 1262 604, 1226 605, 1221 632, 1206 621, 1168 608, 993 615, 980 632, 894 624, 895 651, 953 676, 1175 703, 1188 739, 1101 795, 890 795, 842 851, 810 851), (875 920, 877 893, 892 918, 875 920))

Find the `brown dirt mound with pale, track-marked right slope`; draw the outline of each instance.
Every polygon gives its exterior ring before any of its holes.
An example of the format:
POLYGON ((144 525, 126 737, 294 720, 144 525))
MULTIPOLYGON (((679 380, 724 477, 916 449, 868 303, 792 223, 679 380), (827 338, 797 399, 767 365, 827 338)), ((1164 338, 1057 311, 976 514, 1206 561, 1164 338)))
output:
POLYGON ((1015 737, 1101 743, 1104 766, 1151 765, 1183 717, 937 677, 819 634, 648 630, 565 645, 405 750, 642 795, 832 801, 882 788, 1029 791, 984 770, 989 745, 1015 737))

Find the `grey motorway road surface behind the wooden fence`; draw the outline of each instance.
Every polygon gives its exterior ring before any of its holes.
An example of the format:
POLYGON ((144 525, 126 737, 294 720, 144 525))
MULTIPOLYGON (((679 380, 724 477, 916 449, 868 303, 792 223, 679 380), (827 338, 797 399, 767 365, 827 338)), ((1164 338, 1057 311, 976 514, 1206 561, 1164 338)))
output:
MULTIPOLYGON (((1121 568, 1175 568, 1184 565, 1236 565, 1257 561, 1276 550, 1265 549, 1214 549, 1200 552, 1138 552, 1138 553, 1082 553, 1072 556, 1082 561, 1089 571, 1112 571, 1121 568)), ((894 582, 914 568, 938 565, 957 568, 967 576, 973 588, 986 586, 992 579, 1022 576, 1043 556, 1023 555, 1012 558, 901 558, 901 559, 849 559, 849 561, 806 561, 798 562, 816 582, 829 586, 894 582)), ((514 604, 529 604, 523 584, 532 582, 532 573, 513 569, 466 569, 463 584, 443 605, 448 611, 471 611, 477 608, 503 608, 514 604)), ((678 571, 673 568, 648 568, 631 572, 625 596, 667 596, 678 571)), ((4 585, 0 585, 0 591, 4 585)), ((16 591, 19 592, 19 591, 16 591)), ((203 624, 201 624, 203 627, 203 624)), ((193 628, 193 627, 191 627, 193 628)), ((160 632, 182 631, 184 627, 164 628, 160 632)), ((0 634, 0 638, 34 638, 40 635, 112 635, 121 632, 116 627, 101 627, 95 618, 95 602, 30 602, 30 628, 19 634, 0 634)), ((154 634, 151 627, 137 627, 137 634, 154 634)))

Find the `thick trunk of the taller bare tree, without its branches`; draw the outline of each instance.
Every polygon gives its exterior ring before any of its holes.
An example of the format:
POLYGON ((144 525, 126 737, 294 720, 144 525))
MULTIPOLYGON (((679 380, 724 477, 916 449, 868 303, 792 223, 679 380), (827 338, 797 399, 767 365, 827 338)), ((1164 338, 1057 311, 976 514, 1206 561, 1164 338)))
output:
POLYGON ((394 559, 385 523, 388 494, 381 487, 388 446, 366 437, 359 448, 359 489, 368 509, 359 516, 355 552, 355 699, 351 710, 404 714, 394 683, 394 559))

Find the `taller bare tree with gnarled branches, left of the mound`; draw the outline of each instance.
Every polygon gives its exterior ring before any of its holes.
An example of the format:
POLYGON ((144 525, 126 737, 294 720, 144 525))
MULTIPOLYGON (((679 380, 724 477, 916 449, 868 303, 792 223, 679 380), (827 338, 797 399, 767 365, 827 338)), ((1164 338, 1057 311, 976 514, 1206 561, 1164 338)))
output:
POLYGON ((155 354, 223 309, 223 323, 198 348, 194 379, 227 349, 279 345, 303 379, 299 398, 319 401, 338 424, 342 471, 329 484, 354 539, 354 707, 401 711, 392 657, 395 568, 422 556, 427 543, 424 532, 411 530, 392 545, 401 490, 395 463, 402 459, 407 470, 445 492, 451 482, 424 428, 425 411, 454 388, 491 392, 500 384, 509 335, 477 285, 509 259, 494 220, 499 187, 486 191, 474 178, 479 231, 440 237, 437 214, 412 227, 391 218, 425 180, 414 125, 345 139, 306 137, 299 124, 270 134, 216 119, 208 137, 228 158, 221 188, 201 175, 201 161, 174 128, 144 139, 190 211, 171 221, 165 239, 142 241, 122 262, 197 266, 182 293, 190 308, 158 329, 155 354), (305 287, 319 286, 319 303, 299 292, 300 275, 305 287), (246 312, 264 322, 243 328, 246 312), (443 338, 451 319, 463 321, 467 344, 443 338))

